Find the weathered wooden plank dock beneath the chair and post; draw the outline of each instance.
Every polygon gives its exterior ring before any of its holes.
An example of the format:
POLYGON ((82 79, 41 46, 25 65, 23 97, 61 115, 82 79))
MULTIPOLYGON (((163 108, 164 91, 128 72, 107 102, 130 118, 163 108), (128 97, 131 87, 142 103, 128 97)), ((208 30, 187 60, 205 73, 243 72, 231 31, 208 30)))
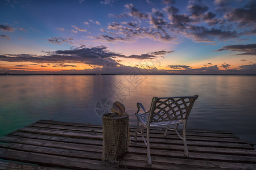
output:
POLYGON ((0 169, 256 169, 256 151, 229 131, 187 130, 183 142, 151 129, 152 167, 141 137, 118 163, 101 161, 102 126, 40 120, 0 138, 0 169))

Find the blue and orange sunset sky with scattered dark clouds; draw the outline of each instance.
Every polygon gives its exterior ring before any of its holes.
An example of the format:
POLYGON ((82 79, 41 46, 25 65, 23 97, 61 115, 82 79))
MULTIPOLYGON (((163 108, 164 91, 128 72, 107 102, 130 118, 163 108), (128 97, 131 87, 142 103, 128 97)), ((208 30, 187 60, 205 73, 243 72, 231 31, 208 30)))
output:
POLYGON ((0 0, 0 12, 0 73, 256 74, 256 1, 0 0))

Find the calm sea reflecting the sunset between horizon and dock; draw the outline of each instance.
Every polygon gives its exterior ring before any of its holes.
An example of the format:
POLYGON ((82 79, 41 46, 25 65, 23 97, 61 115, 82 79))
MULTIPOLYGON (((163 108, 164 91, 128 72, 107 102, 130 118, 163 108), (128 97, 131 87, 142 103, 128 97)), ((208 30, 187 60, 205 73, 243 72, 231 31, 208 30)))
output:
POLYGON ((40 119, 102 124, 108 99, 121 101, 135 125, 137 102, 149 109, 154 96, 199 95, 187 128, 230 130, 256 143, 255 85, 256 76, 237 75, 0 76, 0 135, 40 119))

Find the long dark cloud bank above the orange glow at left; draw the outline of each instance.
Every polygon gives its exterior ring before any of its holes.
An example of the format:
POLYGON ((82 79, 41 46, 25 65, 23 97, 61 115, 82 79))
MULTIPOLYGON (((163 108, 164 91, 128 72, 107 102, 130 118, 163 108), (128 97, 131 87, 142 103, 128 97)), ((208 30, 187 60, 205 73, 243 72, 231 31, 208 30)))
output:
POLYGON ((97 66, 115 67, 119 63, 111 57, 125 57, 121 54, 109 52, 106 46, 96 46, 93 48, 86 48, 85 46, 81 46, 80 48, 75 48, 72 50, 57 50, 54 52, 47 52, 47 54, 48 55, 44 56, 36 56, 31 54, 5 54, 0 56, 0 61, 56 64, 86 63, 97 66))

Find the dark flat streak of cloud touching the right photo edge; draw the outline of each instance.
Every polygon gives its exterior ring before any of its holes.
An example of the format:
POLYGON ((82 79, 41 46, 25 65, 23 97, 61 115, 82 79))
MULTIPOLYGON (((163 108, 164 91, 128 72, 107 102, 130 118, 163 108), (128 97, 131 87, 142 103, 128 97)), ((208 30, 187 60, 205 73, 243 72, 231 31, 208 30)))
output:
POLYGON ((246 45, 228 45, 224 46, 221 49, 216 50, 221 52, 223 50, 231 50, 234 52, 244 52, 237 55, 254 55, 256 56, 256 44, 246 44, 246 45))

